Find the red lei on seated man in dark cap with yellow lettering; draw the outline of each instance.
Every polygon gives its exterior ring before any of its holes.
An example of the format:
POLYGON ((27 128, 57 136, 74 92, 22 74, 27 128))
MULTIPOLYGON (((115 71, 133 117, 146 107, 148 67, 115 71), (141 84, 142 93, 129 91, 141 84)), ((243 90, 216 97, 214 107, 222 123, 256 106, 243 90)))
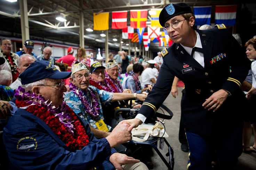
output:
POLYGON ((111 93, 118 93, 117 87, 109 80, 104 80, 105 84, 101 82, 96 82, 94 79, 90 77, 90 85, 96 87, 98 90, 105 90, 107 92, 111 93))

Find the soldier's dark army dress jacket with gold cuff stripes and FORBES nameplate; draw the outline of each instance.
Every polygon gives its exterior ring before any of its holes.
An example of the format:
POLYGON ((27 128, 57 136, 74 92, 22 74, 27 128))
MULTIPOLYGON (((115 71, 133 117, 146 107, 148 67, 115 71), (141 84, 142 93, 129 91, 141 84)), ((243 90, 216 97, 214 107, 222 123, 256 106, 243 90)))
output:
POLYGON ((147 117, 147 122, 169 95, 176 76, 185 84, 181 105, 183 126, 192 133, 211 136, 214 131, 224 133, 242 123, 246 98, 240 86, 251 62, 227 29, 196 31, 200 35, 205 67, 180 44, 174 43, 163 50, 163 64, 157 83, 138 113, 147 117), (220 89, 229 91, 231 95, 216 112, 204 109, 202 104, 220 89))

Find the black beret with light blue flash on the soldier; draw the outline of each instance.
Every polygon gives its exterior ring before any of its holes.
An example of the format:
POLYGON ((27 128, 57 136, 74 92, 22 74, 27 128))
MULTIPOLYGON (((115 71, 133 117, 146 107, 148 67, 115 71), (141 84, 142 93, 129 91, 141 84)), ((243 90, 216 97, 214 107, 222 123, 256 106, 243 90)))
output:
POLYGON ((181 14, 189 14, 192 13, 191 7, 188 6, 186 3, 176 3, 176 4, 169 4, 166 5, 162 11, 160 12, 159 15, 159 23, 161 24, 161 26, 165 26, 165 23, 177 16, 177 15, 181 15, 181 14))

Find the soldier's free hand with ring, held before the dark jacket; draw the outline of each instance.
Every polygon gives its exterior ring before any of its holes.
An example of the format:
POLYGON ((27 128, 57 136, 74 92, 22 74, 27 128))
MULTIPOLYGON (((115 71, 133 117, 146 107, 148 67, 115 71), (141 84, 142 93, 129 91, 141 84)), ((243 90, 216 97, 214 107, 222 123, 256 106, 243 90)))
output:
POLYGON ((219 107, 221 107, 222 103, 227 99, 229 95, 229 93, 221 89, 213 93, 208 99, 206 99, 202 106, 208 110, 214 109, 213 112, 215 112, 219 109, 219 107))

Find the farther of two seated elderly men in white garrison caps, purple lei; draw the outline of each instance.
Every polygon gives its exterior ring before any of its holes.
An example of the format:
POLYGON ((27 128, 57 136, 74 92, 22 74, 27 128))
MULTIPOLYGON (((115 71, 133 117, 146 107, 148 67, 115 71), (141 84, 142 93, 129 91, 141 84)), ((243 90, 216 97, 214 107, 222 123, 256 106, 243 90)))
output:
MULTIPOLYGON (((115 61, 111 62, 110 60, 110 62, 107 63, 106 67, 107 67, 106 79, 114 84, 114 86, 117 88, 119 93, 123 93, 124 90, 123 90, 122 84, 118 79, 118 75, 120 71, 118 67, 118 63, 115 61)), ((130 93, 130 92, 125 91, 124 93, 130 93)))

